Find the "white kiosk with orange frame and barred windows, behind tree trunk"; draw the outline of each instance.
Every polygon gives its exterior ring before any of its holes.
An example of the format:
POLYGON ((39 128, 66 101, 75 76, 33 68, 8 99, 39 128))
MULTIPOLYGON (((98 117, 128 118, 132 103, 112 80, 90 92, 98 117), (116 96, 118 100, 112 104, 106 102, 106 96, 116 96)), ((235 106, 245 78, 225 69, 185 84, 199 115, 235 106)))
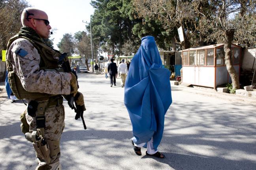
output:
MULTIPOLYGON (((241 47, 231 45, 232 64, 240 75, 241 47)), ((226 69, 224 44, 207 45, 182 50, 183 83, 216 89, 218 85, 232 83, 226 69)))

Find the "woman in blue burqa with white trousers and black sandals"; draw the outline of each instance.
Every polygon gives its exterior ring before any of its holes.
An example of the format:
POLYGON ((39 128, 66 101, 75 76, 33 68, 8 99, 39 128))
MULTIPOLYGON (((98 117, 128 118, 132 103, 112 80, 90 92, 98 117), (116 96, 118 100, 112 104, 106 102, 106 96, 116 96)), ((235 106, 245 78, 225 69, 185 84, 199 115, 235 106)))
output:
POLYGON ((154 37, 143 37, 132 58, 124 92, 137 155, 141 155, 144 147, 146 155, 164 158, 157 148, 163 136, 164 115, 172 102, 169 77, 170 71, 162 67, 154 37))

